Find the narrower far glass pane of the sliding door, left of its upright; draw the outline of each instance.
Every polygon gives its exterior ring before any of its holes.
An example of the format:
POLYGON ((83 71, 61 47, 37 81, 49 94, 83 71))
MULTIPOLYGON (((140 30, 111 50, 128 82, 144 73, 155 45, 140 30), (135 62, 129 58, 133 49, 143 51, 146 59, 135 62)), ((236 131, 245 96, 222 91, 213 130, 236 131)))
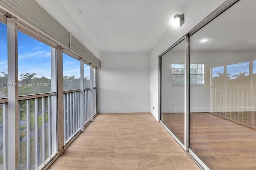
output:
POLYGON ((161 57, 161 121, 184 145, 185 41, 161 57))

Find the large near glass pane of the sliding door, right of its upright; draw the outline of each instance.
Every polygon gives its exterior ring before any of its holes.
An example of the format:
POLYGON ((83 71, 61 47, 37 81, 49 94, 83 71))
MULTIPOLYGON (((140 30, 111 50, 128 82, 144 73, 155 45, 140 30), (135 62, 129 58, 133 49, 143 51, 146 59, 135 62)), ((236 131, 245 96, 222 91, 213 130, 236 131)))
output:
POLYGON ((190 81, 189 147, 210 169, 256 169, 255 38, 256 1, 237 2, 190 37, 190 71, 204 64, 204 83, 190 81))

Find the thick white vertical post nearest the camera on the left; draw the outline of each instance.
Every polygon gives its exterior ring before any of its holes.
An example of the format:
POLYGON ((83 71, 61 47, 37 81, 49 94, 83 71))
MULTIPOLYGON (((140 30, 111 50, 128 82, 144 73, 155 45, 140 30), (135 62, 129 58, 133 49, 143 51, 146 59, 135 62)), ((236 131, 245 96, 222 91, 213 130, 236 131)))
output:
POLYGON ((18 43, 17 20, 7 18, 7 50, 8 50, 8 113, 7 113, 7 167, 18 169, 19 150, 19 115, 18 115, 18 43))

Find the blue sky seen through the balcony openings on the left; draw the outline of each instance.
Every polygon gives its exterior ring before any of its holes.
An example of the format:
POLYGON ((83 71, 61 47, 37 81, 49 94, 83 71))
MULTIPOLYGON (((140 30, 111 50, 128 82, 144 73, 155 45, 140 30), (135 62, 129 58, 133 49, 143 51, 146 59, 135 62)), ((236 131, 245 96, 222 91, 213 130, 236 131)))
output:
MULTIPOLYGON (((90 66, 84 66, 84 77, 90 79, 90 66)), ((0 23, 0 72, 7 73, 7 30, 3 23, 0 23)), ((26 72, 51 78, 51 47, 18 31, 18 79, 26 72)), ((63 75, 80 77, 80 61, 63 53, 63 75)))

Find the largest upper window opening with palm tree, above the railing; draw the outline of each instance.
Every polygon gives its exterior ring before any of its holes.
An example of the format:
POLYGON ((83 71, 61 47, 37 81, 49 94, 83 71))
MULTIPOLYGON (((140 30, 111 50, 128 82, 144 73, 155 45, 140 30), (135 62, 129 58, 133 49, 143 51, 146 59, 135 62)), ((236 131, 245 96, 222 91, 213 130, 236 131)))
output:
POLYGON ((49 93, 51 47, 18 31, 18 95, 49 93))

